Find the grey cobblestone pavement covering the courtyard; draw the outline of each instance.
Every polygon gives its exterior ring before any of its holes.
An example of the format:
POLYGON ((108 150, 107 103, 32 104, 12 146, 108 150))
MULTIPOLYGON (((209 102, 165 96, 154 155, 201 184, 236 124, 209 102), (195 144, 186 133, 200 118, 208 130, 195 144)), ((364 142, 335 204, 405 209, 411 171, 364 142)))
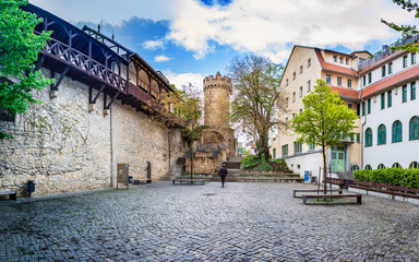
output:
POLYGON ((419 206, 307 206, 306 184, 154 182, 0 202, 0 261, 418 261, 419 206))

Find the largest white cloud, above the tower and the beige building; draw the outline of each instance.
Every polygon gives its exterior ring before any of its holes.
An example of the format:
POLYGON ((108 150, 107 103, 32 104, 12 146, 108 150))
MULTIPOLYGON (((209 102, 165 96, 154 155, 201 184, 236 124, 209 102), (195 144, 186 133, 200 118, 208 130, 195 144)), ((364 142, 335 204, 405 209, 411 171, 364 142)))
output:
POLYGON ((387 39, 394 32, 381 19, 407 23, 406 14, 388 0, 236 0, 211 8, 181 0, 168 39, 194 51, 196 59, 215 41, 280 61, 288 58, 289 44, 359 49, 369 40, 387 39))

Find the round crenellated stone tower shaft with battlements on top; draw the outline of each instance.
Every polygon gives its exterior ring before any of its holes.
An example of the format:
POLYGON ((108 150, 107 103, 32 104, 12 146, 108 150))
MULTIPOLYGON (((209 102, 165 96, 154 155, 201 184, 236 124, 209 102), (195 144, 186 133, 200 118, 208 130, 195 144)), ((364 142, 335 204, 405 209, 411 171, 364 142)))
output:
POLYGON ((204 79, 204 123, 213 128, 227 128, 230 114, 231 79, 219 72, 204 79))

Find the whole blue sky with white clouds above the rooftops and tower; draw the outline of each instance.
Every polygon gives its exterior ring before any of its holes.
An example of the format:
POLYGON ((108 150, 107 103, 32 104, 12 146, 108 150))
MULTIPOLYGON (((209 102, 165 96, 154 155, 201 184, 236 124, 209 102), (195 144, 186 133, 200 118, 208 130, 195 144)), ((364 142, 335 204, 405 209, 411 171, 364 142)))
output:
POLYGON ((399 34, 382 17, 411 23, 391 0, 29 0, 77 26, 115 34, 177 85, 254 52, 286 63, 294 45, 375 52, 399 34))

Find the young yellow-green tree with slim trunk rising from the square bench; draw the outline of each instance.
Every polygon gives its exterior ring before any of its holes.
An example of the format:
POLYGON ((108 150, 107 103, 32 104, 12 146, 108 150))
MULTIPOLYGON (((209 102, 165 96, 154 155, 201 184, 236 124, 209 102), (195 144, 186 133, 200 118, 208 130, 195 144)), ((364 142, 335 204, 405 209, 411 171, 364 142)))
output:
MULTIPOLYGON (((337 92, 322 80, 315 82, 314 91, 302 98, 304 110, 291 120, 291 128, 300 134, 298 142, 322 146, 323 178, 326 178, 326 147, 337 145, 340 138, 354 134, 355 120, 352 109, 346 107, 337 92)), ((327 187, 324 183, 324 193, 327 187)))

